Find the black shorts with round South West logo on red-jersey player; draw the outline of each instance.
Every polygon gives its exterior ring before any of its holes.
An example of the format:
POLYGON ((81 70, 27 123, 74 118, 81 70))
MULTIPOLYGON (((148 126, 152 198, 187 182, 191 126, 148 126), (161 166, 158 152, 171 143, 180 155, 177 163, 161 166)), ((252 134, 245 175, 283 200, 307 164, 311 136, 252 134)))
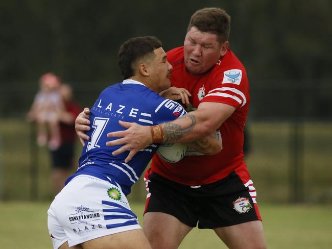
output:
POLYGON ((218 182, 199 187, 178 184, 151 169, 145 181, 148 190, 145 212, 167 213, 190 227, 198 223, 200 229, 261 220, 255 198, 250 195, 252 184, 249 191, 235 171, 218 182))

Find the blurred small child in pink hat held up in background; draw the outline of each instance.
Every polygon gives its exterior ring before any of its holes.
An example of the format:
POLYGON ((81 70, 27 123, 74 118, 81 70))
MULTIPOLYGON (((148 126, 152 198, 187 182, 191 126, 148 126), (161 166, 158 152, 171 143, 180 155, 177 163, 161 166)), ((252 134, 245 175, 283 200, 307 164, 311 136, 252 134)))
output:
POLYGON ((59 114, 64 111, 64 105, 59 92, 60 83, 55 74, 43 74, 39 80, 40 90, 28 113, 28 119, 37 124, 37 144, 44 146, 48 143, 51 150, 56 150, 61 143, 59 114))

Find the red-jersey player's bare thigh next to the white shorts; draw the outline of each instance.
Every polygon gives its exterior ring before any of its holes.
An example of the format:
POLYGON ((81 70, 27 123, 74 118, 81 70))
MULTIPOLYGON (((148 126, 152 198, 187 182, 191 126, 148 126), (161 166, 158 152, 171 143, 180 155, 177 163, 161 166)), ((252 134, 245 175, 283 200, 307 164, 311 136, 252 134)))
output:
POLYGON ((144 215, 144 232, 154 249, 178 248, 192 229, 170 214, 148 212, 144 215))

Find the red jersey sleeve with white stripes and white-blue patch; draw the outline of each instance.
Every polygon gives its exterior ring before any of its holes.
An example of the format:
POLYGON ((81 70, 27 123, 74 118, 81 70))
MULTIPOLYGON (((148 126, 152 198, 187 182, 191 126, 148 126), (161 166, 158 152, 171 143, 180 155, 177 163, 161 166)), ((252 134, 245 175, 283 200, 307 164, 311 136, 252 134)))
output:
POLYGON ((211 90, 202 102, 219 102, 235 108, 244 107, 249 100, 249 83, 244 67, 222 69, 211 79, 211 90))

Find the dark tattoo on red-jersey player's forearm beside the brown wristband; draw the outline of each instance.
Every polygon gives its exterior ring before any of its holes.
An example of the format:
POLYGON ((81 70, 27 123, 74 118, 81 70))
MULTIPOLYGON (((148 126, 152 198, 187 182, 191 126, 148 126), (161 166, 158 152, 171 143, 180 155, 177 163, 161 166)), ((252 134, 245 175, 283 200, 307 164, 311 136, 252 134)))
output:
MULTIPOLYGON (((193 114, 187 113, 186 115, 180 117, 181 119, 190 118, 191 123, 188 127, 181 127, 179 124, 175 123, 165 123, 163 127, 163 134, 165 137, 165 142, 176 142, 185 134, 191 132, 196 125, 196 117, 193 114)), ((180 119, 178 118, 178 119, 180 119)))

